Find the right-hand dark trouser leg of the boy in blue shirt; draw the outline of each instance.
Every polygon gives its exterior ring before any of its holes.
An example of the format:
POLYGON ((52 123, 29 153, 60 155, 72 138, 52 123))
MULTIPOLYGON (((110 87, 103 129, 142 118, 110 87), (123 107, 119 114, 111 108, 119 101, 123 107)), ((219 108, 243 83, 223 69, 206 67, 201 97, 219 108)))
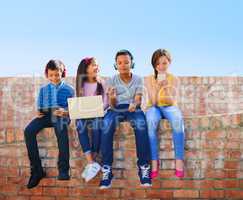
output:
POLYGON ((68 139, 68 120, 57 117, 53 122, 57 144, 59 149, 58 169, 59 172, 67 173, 69 171, 69 139, 68 139))

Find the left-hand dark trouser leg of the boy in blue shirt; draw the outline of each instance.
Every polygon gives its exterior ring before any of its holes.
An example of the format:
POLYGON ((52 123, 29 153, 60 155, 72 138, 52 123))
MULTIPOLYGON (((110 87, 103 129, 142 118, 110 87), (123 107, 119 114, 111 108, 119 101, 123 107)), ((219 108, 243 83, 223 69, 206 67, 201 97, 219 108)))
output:
POLYGON ((24 130, 24 138, 30 160, 31 171, 34 173, 42 173, 41 160, 38 151, 36 135, 46 127, 51 127, 50 120, 47 116, 35 118, 24 130))

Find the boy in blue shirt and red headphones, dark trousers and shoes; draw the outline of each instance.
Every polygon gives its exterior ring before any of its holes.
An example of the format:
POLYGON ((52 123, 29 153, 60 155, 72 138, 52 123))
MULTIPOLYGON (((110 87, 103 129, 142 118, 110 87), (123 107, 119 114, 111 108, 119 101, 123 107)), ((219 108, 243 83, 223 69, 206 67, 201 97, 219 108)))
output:
POLYGON ((38 151, 36 136, 43 129, 53 127, 57 137, 59 156, 59 180, 69 180, 69 140, 68 140, 68 103, 74 96, 73 88, 62 79, 65 77, 65 66, 59 60, 50 60, 45 69, 49 83, 42 87, 38 96, 38 112, 24 130, 25 143, 31 166, 31 177, 27 188, 36 187, 46 176, 43 171, 38 151))

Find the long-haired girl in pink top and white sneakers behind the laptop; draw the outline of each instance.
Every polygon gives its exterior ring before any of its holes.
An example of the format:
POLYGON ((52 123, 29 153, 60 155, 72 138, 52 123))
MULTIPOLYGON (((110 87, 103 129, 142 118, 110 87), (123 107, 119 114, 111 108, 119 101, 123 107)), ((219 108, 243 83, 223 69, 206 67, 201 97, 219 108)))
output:
MULTIPOLYGON (((81 60, 76 76, 76 95, 77 97, 102 95, 105 109, 108 104, 104 80, 98 76, 98 73, 99 66, 95 58, 90 57, 81 60)), ((103 118, 76 120, 79 141, 88 162, 81 175, 86 182, 94 178, 101 168, 95 161, 95 157, 100 148, 102 120, 103 118), (88 136, 88 128, 92 131, 91 142, 88 136)))

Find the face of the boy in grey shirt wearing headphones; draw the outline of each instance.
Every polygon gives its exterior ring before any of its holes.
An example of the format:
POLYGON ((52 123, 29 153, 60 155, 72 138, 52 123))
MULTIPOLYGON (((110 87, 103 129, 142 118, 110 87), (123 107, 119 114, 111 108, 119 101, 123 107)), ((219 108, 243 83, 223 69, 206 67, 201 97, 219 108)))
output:
POLYGON ((120 74, 128 74, 131 70, 132 60, 129 55, 120 55, 116 59, 117 70, 120 74))

